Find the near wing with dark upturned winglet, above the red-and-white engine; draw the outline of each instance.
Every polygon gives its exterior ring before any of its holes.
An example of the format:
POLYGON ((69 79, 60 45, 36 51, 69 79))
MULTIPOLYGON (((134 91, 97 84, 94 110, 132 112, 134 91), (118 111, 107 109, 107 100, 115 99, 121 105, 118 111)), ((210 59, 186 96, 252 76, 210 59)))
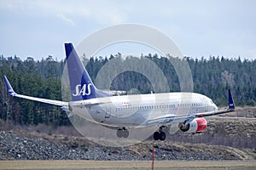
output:
POLYGON ((208 111, 203 113, 195 113, 192 115, 173 115, 167 114, 164 116, 159 116, 154 119, 148 120, 148 126, 169 126, 172 123, 183 122, 184 126, 187 126, 189 122, 192 122, 196 117, 205 117, 205 116, 216 116, 224 113, 235 111, 235 103, 232 97, 232 94, 229 89, 229 107, 228 109, 219 110, 219 111, 208 111))

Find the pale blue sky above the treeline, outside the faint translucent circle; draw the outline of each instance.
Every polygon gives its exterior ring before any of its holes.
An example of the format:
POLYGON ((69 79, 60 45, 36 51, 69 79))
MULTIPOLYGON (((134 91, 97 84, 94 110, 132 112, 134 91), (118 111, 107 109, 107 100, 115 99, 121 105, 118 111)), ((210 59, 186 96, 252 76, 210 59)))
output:
POLYGON ((61 60, 64 42, 78 45, 103 28, 132 23, 166 34, 185 56, 256 59, 255 7, 253 0, 0 0, 0 54, 61 60))

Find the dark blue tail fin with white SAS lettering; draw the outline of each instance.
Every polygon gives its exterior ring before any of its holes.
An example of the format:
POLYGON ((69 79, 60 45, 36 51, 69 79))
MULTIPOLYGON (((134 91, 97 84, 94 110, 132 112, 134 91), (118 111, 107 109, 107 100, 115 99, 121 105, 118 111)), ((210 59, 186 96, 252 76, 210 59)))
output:
POLYGON ((72 100, 79 101, 110 96, 94 86, 72 43, 65 43, 65 51, 72 100))

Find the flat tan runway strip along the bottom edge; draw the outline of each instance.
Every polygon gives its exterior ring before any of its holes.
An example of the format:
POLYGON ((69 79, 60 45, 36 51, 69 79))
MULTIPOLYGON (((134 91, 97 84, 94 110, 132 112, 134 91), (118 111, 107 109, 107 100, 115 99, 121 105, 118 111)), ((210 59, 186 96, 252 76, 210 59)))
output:
MULTIPOLYGON (((0 161, 0 169, 146 170, 152 161, 0 161)), ((154 169, 255 169, 256 161, 154 161, 154 169)))

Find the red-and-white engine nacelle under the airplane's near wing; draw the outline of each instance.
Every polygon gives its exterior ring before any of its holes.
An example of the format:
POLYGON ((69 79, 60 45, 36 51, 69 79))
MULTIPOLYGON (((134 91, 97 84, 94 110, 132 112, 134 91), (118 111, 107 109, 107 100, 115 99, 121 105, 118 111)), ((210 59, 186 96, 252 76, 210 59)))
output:
POLYGON ((207 129, 207 120, 203 117, 195 118, 187 126, 179 126, 184 133, 201 133, 207 129))

